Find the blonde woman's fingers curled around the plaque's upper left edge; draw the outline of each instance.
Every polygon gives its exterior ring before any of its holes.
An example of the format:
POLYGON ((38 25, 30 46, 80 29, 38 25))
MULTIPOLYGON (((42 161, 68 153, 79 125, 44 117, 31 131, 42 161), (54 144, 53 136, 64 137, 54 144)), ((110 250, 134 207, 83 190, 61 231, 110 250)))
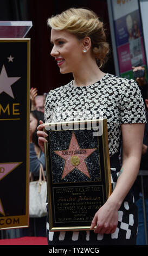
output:
POLYGON ((44 143, 47 142, 47 133, 43 131, 44 125, 43 121, 40 120, 40 125, 37 127, 37 136, 38 136, 38 144, 41 150, 44 152, 44 143))

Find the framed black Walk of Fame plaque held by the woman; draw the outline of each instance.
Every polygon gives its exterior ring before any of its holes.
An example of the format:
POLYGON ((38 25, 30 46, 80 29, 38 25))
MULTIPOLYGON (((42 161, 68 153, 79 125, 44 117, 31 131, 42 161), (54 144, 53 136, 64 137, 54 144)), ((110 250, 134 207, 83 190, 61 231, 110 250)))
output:
POLYGON ((50 231, 89 230, 111 194, 107 120, 44 125, 50 231))

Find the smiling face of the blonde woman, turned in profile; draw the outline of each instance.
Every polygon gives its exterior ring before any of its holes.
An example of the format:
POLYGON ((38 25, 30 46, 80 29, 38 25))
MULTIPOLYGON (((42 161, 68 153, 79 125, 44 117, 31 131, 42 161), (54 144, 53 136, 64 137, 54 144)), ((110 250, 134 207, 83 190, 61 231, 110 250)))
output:
POLYGON ((53 48, 51 55, 57 61, 62 74, 75 72, 82 64, 82 40, 67 31, 56 31, 52 28, 51 42, 53 48))

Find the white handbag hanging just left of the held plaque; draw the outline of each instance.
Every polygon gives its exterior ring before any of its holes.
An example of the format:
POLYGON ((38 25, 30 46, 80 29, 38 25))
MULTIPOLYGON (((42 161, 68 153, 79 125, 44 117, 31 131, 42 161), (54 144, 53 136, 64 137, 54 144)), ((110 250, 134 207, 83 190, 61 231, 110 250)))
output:
POLYGON ((47 182, 44 176, 42 164, 40 164, 39 180, 31 181, 33 175, 30 174, 29 184, 29 217, 47 216, 47 182))

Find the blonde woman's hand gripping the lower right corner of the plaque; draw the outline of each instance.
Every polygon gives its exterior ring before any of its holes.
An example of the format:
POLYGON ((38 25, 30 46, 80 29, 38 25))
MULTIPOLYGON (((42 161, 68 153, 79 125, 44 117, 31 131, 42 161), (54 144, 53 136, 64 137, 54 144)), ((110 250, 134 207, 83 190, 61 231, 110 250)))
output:
POLYGON ((115 232, 118 224, 118 209, 114 204, 106 202, 95 214, 91 229, 94 233, 111 234, 115 232))

